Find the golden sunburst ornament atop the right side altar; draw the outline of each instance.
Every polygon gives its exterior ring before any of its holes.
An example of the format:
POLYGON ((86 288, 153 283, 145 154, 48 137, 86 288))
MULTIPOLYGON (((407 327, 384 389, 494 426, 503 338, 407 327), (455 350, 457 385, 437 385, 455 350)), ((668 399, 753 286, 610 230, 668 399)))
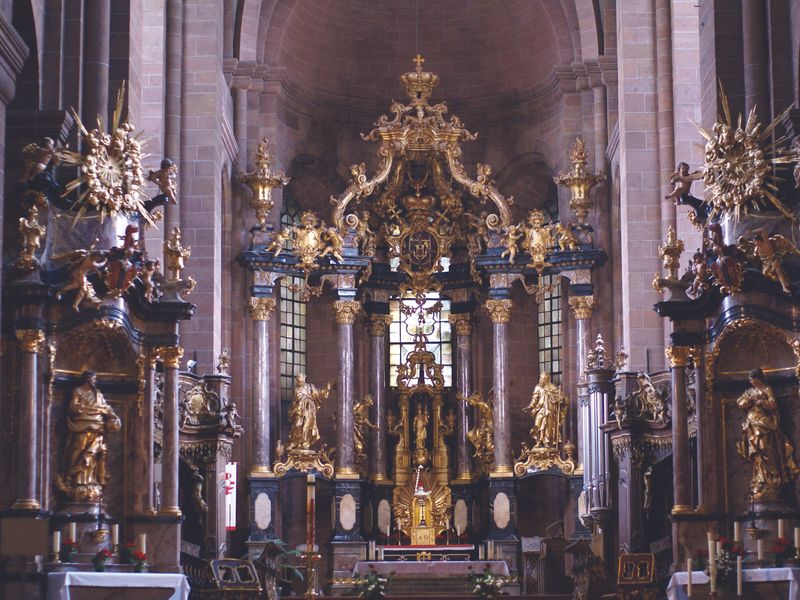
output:
POLYGON ((753 107, 742 127, 742 115, 734 124, 728 97, 721 85, 720 99, 724 114, 717 116, 712 130, 697 126, 706 139, 702 174, 711 215, 733 215, 738 220, 742 211, 747 214, 751 209, 760 210, 770 203, 794 220, 789 209, 775 195, 778 191, 775 167, 794 160, 784 147, 785 137, 770 141, 784 115, 776 117, 762 130, 753 107))

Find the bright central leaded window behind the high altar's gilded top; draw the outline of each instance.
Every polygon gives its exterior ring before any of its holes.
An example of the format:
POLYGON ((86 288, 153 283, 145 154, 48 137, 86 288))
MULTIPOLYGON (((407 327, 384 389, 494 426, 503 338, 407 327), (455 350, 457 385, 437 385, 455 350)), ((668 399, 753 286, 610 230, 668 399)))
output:
MULTIPOLYGON (((397 387, 397 367, 403 364, 408 353, 414 350, 414 333, 418 330, 419 310, 413 296, 395 298, 389 303, 389 385, 397 387)), ((436 362, 442 365, 444 385, 450 387, 453 382, 453 346, 450 331, 450 300, 442 298, 438 293, 425 295, 423 305, 422 329, 428 336, 426 349, 433 352, 436 362), (431 310, 441 303, 438 311, 431 310)), ((423 380, 425 383, 430 381, 423 380)))

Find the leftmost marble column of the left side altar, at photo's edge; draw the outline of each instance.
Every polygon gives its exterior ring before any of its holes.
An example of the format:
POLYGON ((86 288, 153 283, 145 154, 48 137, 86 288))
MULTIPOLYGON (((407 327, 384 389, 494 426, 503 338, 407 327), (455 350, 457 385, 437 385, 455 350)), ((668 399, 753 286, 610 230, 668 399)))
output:
POLYGON ((39 472, 39 353, 44 344, 44 332, 40 329, 17 329, 17 340, 21 354, 20 377, 20 444, 19 489, 12 509, 38 510, 36 492, 39 472))

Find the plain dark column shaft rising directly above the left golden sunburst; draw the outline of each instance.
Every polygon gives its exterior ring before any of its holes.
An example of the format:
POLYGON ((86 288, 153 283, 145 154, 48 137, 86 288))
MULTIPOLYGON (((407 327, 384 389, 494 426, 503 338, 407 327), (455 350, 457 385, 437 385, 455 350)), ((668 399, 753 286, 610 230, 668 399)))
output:
POLYGON ((111 42, 111 0, 86 0, 84 12, 83 122, 108 125, 108 65, 111 42))

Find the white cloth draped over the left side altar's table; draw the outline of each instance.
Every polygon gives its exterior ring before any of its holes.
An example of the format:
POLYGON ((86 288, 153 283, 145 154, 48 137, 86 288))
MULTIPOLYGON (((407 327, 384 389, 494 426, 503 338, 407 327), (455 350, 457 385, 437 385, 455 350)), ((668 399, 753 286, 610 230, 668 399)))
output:
MULTIPOLYGON (((187 600, 189 582, 180 573, 96 573, 87 571, 67 571, 47 574, 47 600, 75 600, 83 596, 80 589, 72 588, 130 588, 135 590, 163 590, 158 597, 168 600, 187 600), (172 591, 170 595, 166 595, 172 591)), ((102 590, 96 590, 101 592, 102 590)), ((111 592, 111 590, 109 590, 111 592)), ((116 593, 116 592, 114 592, 116 593)), ((92 593, 91 596, 102 597, 92 593)), ((137 596, 142 597, 141 594, 137 596)), ((119 596, 109 596, 109 598, 119 596)))

